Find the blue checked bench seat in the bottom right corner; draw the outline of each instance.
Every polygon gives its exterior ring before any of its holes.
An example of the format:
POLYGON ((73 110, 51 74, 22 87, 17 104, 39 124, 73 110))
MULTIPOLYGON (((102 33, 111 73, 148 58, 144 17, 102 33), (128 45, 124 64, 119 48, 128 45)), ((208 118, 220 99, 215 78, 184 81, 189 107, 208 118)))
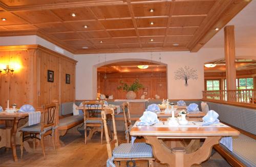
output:
MULTIPOLYGON (((221 146, 226 149, 225 146, 221 146)), ((256 140, 246 135, 240 134, 238 138, 233 138, 233 151, 230 153, 234 157, 238 158, 246 166, 252 167, 256 166, 255 150, 256 140)))

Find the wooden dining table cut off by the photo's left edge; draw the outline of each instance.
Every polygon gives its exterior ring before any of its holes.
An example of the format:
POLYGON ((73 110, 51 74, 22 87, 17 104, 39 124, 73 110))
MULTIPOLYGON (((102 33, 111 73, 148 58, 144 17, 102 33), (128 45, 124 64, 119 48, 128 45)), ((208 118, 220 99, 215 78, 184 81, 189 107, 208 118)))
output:
MULTIPOLYGON (((12 157, 15 162, 18 161, 16 154, 16 132, 17 126, 20 119, 28 117, 28 113, 0 113, 0 120, 6 120, 7 122, 12 122, 11 127, 11 148, 12 148, 12 157)), ((6 123, 7 125, 7 123, 6 123)))

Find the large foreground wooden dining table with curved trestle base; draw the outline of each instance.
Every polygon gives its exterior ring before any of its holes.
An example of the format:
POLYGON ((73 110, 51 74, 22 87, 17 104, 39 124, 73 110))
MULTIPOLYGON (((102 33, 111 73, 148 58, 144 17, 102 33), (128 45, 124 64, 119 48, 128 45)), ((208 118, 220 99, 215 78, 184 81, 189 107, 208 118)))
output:
POLYGON ((130 135, 143 136, 147 144, 152 146, 154 157, 160 163, 174 166, 191 166, 200 164, 207 160, 214 145, 219 144, 223 136, 236 136, 239 131, 229 126, 198 126, 198 127, 159 127, 159 126, 137 126, 132 127, 130 135), (186 145, 170 145, 165 141, 190 140, 186 145), (201 147, 190 150, 195 141, 204 139, 201 147))

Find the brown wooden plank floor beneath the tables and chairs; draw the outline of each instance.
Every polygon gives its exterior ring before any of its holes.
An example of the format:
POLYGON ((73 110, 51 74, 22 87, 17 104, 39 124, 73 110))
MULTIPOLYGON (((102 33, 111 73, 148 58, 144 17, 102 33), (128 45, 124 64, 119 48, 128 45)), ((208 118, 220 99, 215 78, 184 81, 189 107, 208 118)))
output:
MULTIPOLYGON (((118 139, 121 143, 125 143, 124 132, 118 132, 118 139)), ((32 152, 28 153, 24 151, 23 159, 20 159, 20 149, 17 146, 18 162, 13 162, 12 151, 6 151, 5 148, 0 149, 0 166, 1 167, 15 167, 15 166, 106 166, 106 159, 108 157, 106 153, 106 145, 100 144, 100 134, 95 134, 91 141, 87 145, 84 145, 84 136, 79 134, 66 134, 61 138, 61 141, 66 144, 65 147, 57 149, 57 154, 54 154, 51 146, 46 147, 47 160, 44 160, 42 156, 40 146, 32 152)), ((125 163, 121 163, 121 166, 125 166, 125 163)), ((147 166, 146 161, 136 162, 136 166, 147 166)), ((157 164, 156 166, 165 166, 157 164)), ((195 165, 200 166, 200 165, 195 165)), ((229 167, 230 165, 215 151, 212 152, 212 156, 201 166, 223 166, 229 167)))

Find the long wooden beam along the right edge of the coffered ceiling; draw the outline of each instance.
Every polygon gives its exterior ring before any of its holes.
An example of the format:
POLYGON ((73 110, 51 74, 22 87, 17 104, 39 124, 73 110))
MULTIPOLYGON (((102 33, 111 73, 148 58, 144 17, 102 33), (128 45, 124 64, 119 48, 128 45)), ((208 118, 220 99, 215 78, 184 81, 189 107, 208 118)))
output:
POLYGON ((250 1, 230 0, 217 1, 211 8, 204 22, 201 24, 194 38, 187 47, 191 52, 197 52, 204 46, 219 30, 222 29, 234 16, 236 16, 250 1))

